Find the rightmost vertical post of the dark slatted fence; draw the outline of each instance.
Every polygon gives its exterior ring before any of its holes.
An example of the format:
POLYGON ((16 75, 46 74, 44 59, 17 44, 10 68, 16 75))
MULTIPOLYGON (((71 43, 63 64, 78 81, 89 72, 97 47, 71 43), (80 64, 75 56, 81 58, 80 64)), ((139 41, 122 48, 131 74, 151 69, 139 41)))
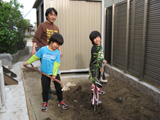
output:
POLYGON ((144 74, 144 58, 145 58, 145 43, 146 43, 146 25, 147 25, 147 7, 148 0, 144 1, 144 19, 143 19, 143 39, 142 39, 142 53, 141 53, 141 66, 140 66, 140 80, 143 79, 144 74))

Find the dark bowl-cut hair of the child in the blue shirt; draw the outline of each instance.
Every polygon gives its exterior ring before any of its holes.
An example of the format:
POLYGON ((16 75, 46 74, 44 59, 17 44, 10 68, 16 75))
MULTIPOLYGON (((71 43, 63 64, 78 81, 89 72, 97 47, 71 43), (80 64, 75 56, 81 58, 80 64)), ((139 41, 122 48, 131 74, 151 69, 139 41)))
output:
POLYGON ((56 42, 59 45, 62 45, 64 40, 61 34, 54 32, 53 35, 49 38, 48 44, 50 44, 51 42, 56 42))

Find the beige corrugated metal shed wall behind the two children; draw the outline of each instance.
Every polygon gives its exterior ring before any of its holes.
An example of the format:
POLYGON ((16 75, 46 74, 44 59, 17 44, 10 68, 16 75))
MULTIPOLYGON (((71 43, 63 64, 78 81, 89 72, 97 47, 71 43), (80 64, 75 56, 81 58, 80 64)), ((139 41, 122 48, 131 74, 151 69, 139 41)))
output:
POLYGON ((101 30, 101 2, 53 0, 53 7, 58 11, 55 24, 64 37, 60 70, 89 68, 89 34, 101 30))

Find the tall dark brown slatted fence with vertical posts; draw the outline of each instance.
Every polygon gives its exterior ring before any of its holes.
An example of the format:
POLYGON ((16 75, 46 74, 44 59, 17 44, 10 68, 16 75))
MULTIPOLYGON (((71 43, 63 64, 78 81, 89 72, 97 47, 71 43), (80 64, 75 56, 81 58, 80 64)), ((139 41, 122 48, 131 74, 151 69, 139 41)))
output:
POLYGON ((127 0, 106 9, 105 58, 124 72, 160 83, 160 1, 127 0))

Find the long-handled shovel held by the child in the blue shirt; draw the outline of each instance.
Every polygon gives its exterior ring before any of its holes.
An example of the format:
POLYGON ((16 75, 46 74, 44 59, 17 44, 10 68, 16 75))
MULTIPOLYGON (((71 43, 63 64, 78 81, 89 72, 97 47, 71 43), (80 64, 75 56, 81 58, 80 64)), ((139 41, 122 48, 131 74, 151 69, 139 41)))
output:
MULTIPOLYGON (((28 66, 25 66, 25 67, 26 67, 26 68, 29 68, 29 69, 32 69, 32 70, 35 70, 35 71, 37 71, 37 72, 39 72, 39 73, 41 73, 41 74, 43 74, 43 75, 45 75, 45 76, 51 78, 50 75, 47 75, 46 73, 44 73, 44 72, 42 72, 42 71, 36 69, 32 64, 30 64, 30 65, 31 65, 32 67, 28 67, 28 66)), ((69 88, 66 84, 62 83, 61 81, 57 80, 56 78, 53 79, 53 80, 56 81, 56 82, 58 82, 59 84, 63 85, 62 91, 70 90, 70 88, 69 88)))

